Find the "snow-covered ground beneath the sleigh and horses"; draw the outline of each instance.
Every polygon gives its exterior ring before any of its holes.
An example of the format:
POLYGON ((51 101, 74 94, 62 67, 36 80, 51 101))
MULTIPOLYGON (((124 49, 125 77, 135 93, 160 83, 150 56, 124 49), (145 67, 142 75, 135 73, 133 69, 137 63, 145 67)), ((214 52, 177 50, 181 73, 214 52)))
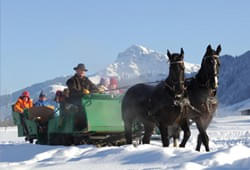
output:
POLYGON ((211 152, 195 151, 197 130, 186 148, 160 141, 134 147, 42 146, 18 138, 16 127, 0 128, 0 169, 197 170, 250 169, 250 116, 216 117, 208 128, 211 152))

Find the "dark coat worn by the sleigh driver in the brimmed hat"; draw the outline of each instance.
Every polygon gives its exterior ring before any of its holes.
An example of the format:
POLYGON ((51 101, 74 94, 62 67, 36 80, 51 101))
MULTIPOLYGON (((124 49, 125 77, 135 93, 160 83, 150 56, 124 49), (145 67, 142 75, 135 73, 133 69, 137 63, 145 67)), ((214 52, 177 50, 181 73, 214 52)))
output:
POLYGON ((70 97, 82 97, 84 95, 83 90, 87 89, 92 92, 97 92, 98 89, 94 83, 92 83, 88 77, 80 78, 77 74, 72 76, 66 82, 69 88, 70 97))

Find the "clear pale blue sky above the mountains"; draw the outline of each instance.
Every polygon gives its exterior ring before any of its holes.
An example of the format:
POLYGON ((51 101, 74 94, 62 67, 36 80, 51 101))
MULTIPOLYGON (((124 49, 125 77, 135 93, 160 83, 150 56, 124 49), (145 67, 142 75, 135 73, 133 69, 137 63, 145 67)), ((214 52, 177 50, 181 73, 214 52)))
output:
POLYGON ((222 54, 250 50, 248 0, 1 0, 1 90, 112 63, 133 44, 165 53, 184 48, 200 63, 208 44, 222 54))

